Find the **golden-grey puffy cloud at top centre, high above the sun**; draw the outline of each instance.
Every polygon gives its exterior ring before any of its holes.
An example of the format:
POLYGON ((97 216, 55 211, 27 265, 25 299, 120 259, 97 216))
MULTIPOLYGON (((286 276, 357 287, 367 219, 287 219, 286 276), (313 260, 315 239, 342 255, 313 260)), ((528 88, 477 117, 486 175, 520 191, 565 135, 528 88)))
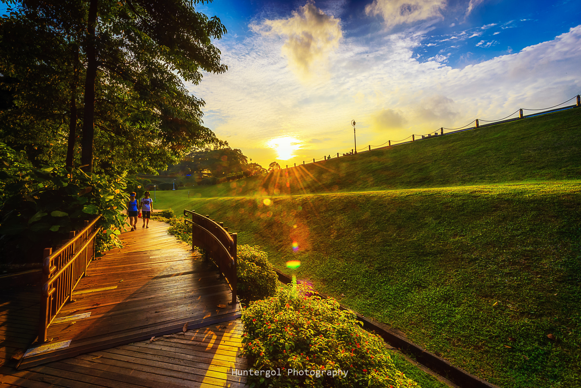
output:
POLYGON ((338 48, 343 36, 340 19, 325 14, 311 2, 292 15, 288 19, 264 20, 250 27, 266 36, 284 37, 282 54, 300 79, 309 80, 314 73, 327 71, 329 53, 338 48))

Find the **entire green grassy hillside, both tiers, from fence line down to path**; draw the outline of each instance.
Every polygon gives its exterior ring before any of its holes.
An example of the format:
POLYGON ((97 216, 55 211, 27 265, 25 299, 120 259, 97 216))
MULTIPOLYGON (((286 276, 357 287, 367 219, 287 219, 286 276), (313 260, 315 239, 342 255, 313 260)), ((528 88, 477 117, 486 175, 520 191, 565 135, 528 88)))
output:
POLYGON ((300 260, 299 278, 498 386, 575 387, 580 116, 157 192, 157 207, 211 214, 280 269, 300 260))

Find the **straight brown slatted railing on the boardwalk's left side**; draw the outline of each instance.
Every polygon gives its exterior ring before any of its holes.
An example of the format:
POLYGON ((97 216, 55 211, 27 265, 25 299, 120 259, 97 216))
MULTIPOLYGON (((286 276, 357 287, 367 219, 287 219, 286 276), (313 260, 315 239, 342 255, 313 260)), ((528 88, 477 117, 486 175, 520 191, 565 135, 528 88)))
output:
POLYGON ((44 250, 42 267, 42 296, 40 323, 38 325, 38 342, 46 342, 46 330, 55 319, 60 308, 72 300, 73 290, 85 274, 89 263, 95 258, 95 237, 101 230, 97 221, 85 221, 82 231, 69 233, 69 240, 57 247, 44 250))

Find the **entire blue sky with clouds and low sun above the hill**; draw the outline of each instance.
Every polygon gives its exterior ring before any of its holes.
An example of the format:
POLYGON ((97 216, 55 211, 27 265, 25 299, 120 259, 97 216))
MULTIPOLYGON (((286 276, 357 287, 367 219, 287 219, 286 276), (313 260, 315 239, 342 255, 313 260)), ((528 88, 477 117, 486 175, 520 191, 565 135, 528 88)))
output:
POLYGON ((204 123, 263 166, 503 118, 581 93, 573 0, 223 0, 225 74, 187 84, 204 123))

